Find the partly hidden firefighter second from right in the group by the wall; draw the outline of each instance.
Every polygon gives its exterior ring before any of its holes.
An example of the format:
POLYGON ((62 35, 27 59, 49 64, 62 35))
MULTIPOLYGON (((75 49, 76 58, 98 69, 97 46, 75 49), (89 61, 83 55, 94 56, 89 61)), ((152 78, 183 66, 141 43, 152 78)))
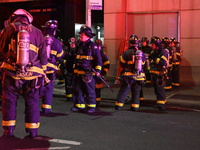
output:
POLYGON ((162 41, 162 46, 165 51, 169 54, 168 56, 168 67, 167 67, 167 76, 166 76, 166 81, 165 81, 165 90, 171 90, 172 89, 172 77, 171 77, 171 72, 172 72, 172 53, 171 49, 169 47, 169 38, 168 37, 163 37, 161 39, 162 41))

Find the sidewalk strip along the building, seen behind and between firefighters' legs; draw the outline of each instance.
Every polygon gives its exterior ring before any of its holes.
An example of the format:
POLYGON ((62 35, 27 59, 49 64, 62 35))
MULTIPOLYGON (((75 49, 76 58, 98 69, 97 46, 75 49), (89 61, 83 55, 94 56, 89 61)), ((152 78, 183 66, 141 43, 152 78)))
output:
MULTIPOLYGON (((119 91, 120 85, 114 84, 114 82, 107 81, 110 87, 113 89, 114 93, 107 88, 103 87, 101 92, 101 97, 103 102, 114 103, 117 97, 117 93, 119 91)), ((143 105, 147 106, 155 106, 156 104, 156 96, 154 94, 153 87, 143 87, 144 100, 142 102, 143 105)), ((56 95, 65 95, 64 84, 56 85, 54 94, 56 95)), ((127 95, 127 100, 131 97, 131 92, 129 91, 127 95)), ((185 109, 185 110, 194 110, 200 111, 200 86, 196 87, 179 87, 177 89, 172 89, 170 91, 166 91, 167 103, 166 108, 177 108, 177 109, 185 109)), ((114 104, 113 104, 114 105, 114 104)))

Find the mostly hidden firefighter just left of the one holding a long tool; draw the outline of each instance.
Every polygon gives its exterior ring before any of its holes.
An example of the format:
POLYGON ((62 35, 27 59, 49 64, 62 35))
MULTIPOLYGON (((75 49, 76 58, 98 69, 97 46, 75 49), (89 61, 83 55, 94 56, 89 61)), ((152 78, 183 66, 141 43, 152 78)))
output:
POLYGON ((72 81, 73 81, 73 64, 74 64, 74 53, 76 48, 76 39, 71 37, 68 40, 69 46, 66 49, 64 61, 64 77, 65 77, 65 94, 67 101, 72 101, 72 81))

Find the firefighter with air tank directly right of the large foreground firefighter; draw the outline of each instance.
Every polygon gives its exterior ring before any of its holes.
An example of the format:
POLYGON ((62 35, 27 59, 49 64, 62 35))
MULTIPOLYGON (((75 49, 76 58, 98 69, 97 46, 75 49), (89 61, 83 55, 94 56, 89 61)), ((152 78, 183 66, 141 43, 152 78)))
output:
POLYGON ((56 79, 56 71, 58 70, 58 60, 62 58, 63 49, 61 42, 55 38, 58 30, 58 22, 56 20, 48 20, 44 26, 44 36, 46 42, 47 53, 47 71, 46 76, 49 82, 46 86, 40 89, 40 96, 42 97, 42 112, 50 113, 52 111, 52 99, 54 82, 56 79))

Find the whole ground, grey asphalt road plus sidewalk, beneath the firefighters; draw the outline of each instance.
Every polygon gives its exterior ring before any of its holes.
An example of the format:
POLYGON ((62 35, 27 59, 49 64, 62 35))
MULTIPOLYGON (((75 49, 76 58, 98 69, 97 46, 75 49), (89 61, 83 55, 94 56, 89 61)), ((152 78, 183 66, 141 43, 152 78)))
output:
MULTIPOLYGON (((102 102, 94 114, 70 111, 64 85, 56 85, 53 111, 41 113, 39 136, 30 139, 24 129, 24 100, 19 98, 15 137, 0 137, 0 150, 199 150, 199 87, 167 91, 167 110, 155 108, 153 88, 144 87, 138 112, 130 108, 130 93, 121 111, 114 109, 119 85, 109 82, 114 93, 102 89, 102 102)), ((1 119, 1 115, 0 115, 1 119)), ((3 134, 3 129, 0 128, 3 134)))

